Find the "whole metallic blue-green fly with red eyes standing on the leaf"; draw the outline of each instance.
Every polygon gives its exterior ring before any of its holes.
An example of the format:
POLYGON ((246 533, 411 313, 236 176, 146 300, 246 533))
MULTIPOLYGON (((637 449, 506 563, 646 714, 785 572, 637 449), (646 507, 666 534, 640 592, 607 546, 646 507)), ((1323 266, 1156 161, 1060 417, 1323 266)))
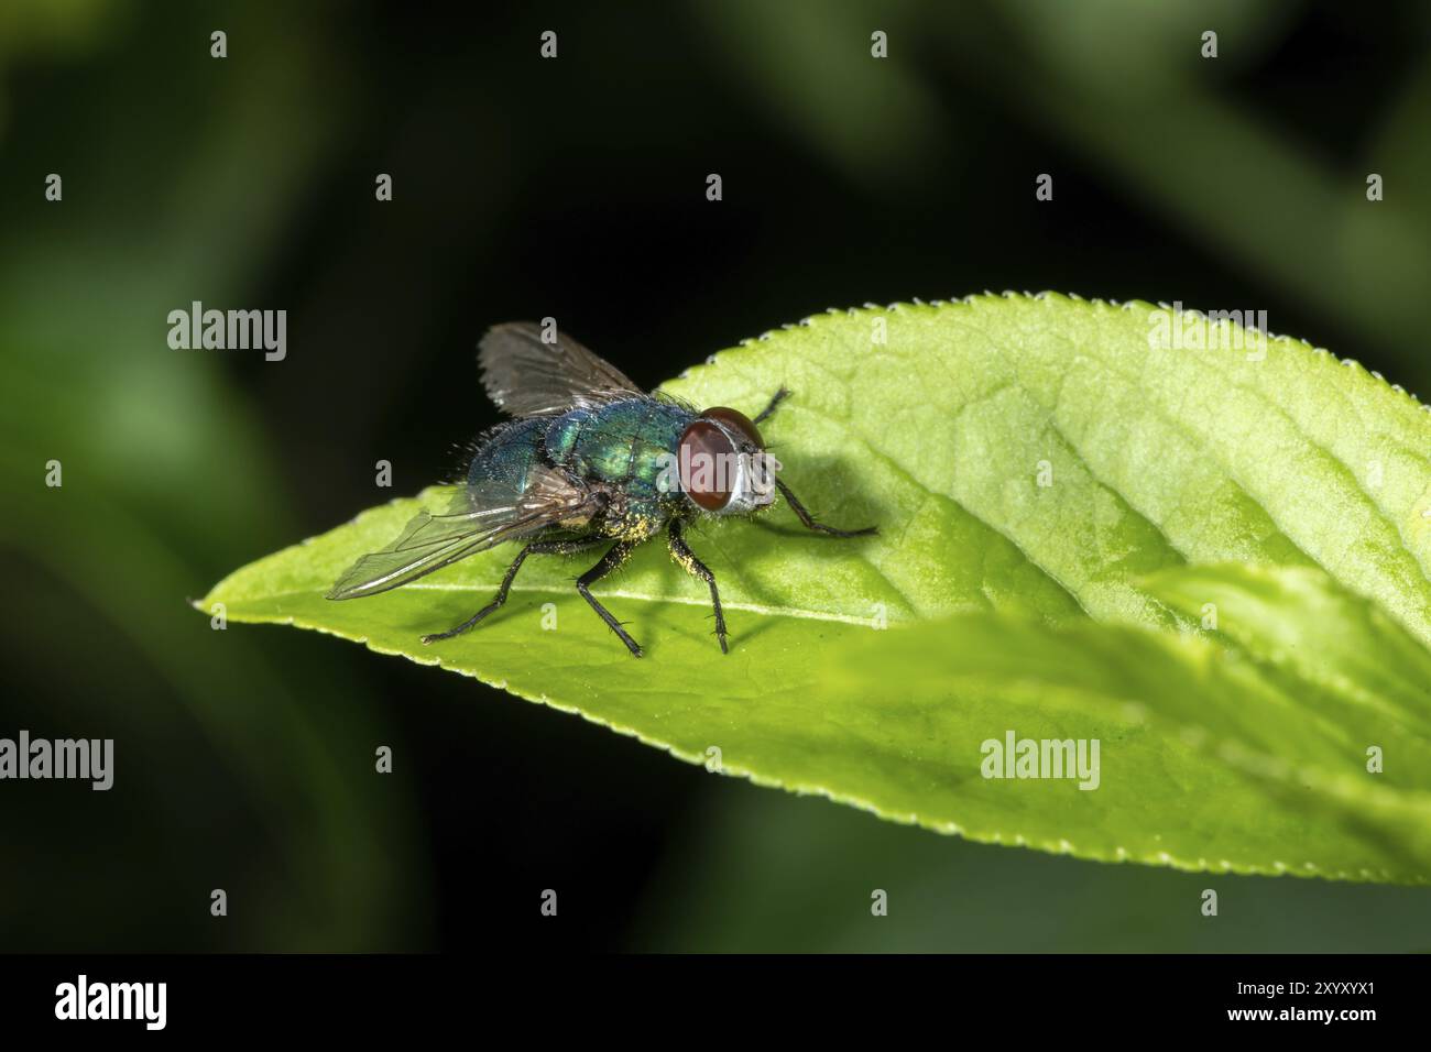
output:
POLYGON ((461 635, 501 608, 528 555, 610 545, 577 578, 577 591, 641 657, 591 585, 664 530, 671 557, 710 587, 716 638, 728 653, 716 575, 687 545, 687 522, 748 515, 773 505, 778 494, 809 530, 831 537, 876 532, 817 522, 778 477, 784 465, 766 447, 760 424, 788 398, 784 388, 754 419, 728 406, 697 411, 645 394, 577 341, 532 322, 489 329, 478 365, 487 394, 512 419, 467 448, 469 461, 448 514, 418 515, 328 593, 331 600, 376 595, 504 541, 522 541, 492 601, 462 624, 424 635, 425 644, 461 635))

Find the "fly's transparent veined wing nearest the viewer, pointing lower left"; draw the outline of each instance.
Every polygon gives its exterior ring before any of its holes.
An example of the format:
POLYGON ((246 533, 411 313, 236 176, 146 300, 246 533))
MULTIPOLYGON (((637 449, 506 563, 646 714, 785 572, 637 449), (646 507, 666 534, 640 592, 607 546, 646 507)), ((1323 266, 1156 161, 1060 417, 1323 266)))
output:
POLYGON ((499 482, 458 487, 452 511, 416 515, 382 551, 352 564, 328 593, 353 600, 396 588, 434 570, 592 511, 591 492, 554 468, 538 468, 525 490, 499 482))

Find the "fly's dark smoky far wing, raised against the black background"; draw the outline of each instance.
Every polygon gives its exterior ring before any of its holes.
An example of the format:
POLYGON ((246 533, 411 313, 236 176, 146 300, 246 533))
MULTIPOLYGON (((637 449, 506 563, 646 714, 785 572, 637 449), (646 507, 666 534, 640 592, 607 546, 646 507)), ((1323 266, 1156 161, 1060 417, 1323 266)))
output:
POLYGON ((477 361, 488 396, 512 417, 542 417, 641 394, 618 368, 571 336, 544 344, 534 322, 488 329, 477 361))

